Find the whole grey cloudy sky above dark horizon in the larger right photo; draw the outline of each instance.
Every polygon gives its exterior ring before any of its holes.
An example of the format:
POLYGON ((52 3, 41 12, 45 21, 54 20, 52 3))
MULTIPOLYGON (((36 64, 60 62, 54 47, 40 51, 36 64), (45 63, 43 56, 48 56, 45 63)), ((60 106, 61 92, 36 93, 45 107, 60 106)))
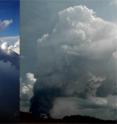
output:
POLYGON ((117 0, 21 0, 21 110, 117 119, 116 12, 117 0))

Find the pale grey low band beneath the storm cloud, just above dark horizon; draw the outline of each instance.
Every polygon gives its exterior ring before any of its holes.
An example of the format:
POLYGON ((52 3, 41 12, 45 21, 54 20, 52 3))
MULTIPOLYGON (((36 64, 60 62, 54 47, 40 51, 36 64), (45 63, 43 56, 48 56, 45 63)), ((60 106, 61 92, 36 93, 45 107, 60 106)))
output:
POLYGON ((111 120, 116 119, 116 110, 117 96, 93 99, 59 97, 55 99, 50 113, 53 118, 58 119, 71 115, 83 115, 111 120))

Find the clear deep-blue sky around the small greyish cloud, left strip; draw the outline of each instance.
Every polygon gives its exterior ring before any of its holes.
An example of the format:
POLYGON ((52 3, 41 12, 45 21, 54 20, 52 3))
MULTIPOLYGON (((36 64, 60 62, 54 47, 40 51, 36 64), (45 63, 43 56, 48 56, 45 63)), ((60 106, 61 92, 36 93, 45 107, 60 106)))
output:
POLYGON ((0 0, 0 21, 4 20, 13 22, 0 31, 0 36, 19 35, 19 0, 0 0))

